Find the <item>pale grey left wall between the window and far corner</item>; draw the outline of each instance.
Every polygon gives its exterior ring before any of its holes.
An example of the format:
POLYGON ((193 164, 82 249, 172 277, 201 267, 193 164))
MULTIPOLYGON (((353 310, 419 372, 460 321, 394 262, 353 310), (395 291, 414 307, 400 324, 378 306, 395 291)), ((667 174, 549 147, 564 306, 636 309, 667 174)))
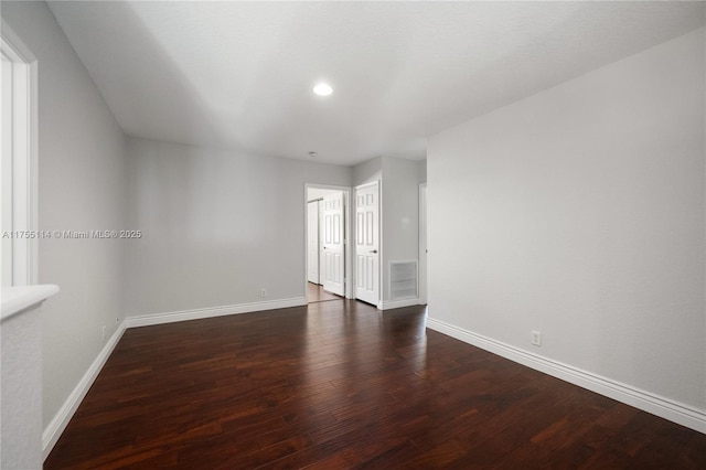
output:
MULTIPOLYGON (((2 18, 39 61, 39 228, 124 228, 124 137, 43 2, 3 2, 2 18)), ((39 280, 61 293, 42 309, 44 426, 122 316, 122 243, 42 239, 39 280)))

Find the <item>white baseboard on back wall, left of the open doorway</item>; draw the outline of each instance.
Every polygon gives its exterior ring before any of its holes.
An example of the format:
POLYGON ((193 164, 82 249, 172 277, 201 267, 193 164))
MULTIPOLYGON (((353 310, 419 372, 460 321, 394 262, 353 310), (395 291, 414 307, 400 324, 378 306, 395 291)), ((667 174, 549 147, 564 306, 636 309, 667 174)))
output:
POLYGON ((263 310, 286 309, 307 305, 304 297, 270 300, 265 302, 238 303, 235 306, 213 307, 206 309, 181 310, 175 312, 151 313, 126 318, 127 328, 149 327, 153 324, 173 323, 176 321, 200 320, 227 314, 257 312, 263 310))

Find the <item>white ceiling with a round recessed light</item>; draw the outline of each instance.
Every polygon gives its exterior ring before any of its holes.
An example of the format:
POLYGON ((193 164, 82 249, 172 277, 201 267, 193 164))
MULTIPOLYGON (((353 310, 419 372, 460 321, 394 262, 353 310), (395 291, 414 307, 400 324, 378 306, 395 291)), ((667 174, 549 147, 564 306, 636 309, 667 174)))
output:
POLYGON ((127 135, 336 164, 422 159, 427 136, 699 28, 704 6, 50 2, 127 135))

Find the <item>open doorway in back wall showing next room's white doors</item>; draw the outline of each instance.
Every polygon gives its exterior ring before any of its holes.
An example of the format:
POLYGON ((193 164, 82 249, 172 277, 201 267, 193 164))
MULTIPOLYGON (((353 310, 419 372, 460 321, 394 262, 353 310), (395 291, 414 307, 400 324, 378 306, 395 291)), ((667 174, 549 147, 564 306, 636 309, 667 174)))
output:
POLYGON ((347 206, 350 190, 307 184, 306 188, 307 301, 350 297, 347 206))

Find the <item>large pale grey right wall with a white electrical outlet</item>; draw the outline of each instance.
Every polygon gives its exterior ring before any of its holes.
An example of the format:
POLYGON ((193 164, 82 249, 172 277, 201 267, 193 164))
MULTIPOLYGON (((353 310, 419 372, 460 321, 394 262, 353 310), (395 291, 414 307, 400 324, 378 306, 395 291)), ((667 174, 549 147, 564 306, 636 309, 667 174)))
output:
POLYGON ((703 416, 704 44, 702 29, 430 139, 432 319, 703 416))

